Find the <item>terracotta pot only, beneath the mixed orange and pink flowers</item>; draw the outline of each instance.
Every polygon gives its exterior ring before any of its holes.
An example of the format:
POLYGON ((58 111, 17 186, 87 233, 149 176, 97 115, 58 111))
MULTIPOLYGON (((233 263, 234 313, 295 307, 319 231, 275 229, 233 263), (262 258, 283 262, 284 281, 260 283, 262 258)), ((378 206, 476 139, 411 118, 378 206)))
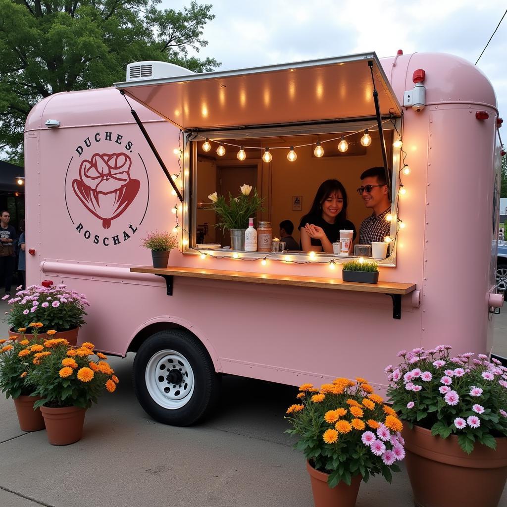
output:
POLYGON ((361 485, 360 475, 352 479, 350 486, 340 482, 338 486, 330 488, 328 474, 315 470, 308 461, 306 469, 310 474, 315 507, 354 507, 361 485))

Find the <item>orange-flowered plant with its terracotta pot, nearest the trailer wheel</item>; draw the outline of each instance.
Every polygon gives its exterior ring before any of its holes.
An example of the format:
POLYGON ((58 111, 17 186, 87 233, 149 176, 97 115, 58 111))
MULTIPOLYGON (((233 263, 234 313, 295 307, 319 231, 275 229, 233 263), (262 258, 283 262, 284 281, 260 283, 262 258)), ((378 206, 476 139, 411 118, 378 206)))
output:
POLYGON ((53 445, 67 445, 81 439, 85 411, 97 403, 104 390, 114 392, 118 378, 94 345, 69 346, 63 339, 48 339, 26 348, 30 359, 26 383, 40 396, 40 407, 48 440, 53 445))

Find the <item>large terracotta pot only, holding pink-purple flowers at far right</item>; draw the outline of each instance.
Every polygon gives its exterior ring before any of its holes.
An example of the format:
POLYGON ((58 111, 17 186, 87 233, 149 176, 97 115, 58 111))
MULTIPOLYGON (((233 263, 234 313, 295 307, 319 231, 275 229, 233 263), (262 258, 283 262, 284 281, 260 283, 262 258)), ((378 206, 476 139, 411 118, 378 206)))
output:
POLYGON ((507 438, 496 450, 476 443, 466 454, 458 437, 432 437, 429 429, 403 430, 407 472, 416 507, 496 507, 507 479, 507 438))

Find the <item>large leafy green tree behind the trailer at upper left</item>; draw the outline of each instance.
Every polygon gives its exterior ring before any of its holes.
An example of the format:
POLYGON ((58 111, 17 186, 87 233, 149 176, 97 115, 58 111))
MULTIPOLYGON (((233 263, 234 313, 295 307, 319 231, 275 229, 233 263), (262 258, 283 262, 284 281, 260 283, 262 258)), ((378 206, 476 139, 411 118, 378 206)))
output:
POLYGON ((125 80, 127 63, 161 60, 195 72, 220 65, 189 56, 207 45, 211 5, 183 11, 161 0, 0 0, 0 149, 22 163, 30 109, 62 91, 125 80))

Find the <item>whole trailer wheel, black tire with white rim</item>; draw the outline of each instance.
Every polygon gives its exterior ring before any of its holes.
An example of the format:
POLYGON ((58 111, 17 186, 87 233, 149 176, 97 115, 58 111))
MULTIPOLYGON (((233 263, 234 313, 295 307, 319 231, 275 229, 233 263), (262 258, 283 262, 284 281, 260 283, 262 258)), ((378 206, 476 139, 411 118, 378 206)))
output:
POLYGON ((188 331, 159 331, 134 358, 134 390, 155 420, 174 426, 198 422, 219 398, 220 376, 202 343, 188 331))

